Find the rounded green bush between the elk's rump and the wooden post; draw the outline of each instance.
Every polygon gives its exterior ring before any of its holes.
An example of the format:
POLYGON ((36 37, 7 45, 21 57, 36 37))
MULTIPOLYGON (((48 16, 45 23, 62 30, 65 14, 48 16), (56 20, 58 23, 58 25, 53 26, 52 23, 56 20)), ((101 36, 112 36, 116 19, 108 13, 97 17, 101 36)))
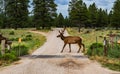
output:
POLYGON ((101 43, 93 43, 90 45, 89 49, 87 50, 87 55, 102 55, 103 54, 103 45, 101 43))

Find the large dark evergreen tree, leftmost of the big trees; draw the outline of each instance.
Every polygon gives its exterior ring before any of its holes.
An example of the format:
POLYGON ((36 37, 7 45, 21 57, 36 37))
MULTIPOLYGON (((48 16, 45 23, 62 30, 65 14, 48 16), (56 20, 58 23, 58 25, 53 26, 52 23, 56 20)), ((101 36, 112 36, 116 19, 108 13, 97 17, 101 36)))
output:
POLYGON ((29 0, 5 0, 5 12, 8 19, 7 27, 26 27, 28 21, 29 0))

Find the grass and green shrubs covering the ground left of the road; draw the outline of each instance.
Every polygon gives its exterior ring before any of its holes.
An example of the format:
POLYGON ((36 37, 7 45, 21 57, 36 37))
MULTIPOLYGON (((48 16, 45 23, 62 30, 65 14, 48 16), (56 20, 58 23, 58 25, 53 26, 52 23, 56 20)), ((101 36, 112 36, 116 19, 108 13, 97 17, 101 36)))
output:
POLYGON ((0 65, 8 65, 18 60, 19 56, 31 54, 46 41, 44 36, 31 33, 29 29, 1 29, 0 33, 12 41, 10 51, 6 49, 4 55, 0 53, 0 65), (21 42, 18 42, 19 38, 21 42))

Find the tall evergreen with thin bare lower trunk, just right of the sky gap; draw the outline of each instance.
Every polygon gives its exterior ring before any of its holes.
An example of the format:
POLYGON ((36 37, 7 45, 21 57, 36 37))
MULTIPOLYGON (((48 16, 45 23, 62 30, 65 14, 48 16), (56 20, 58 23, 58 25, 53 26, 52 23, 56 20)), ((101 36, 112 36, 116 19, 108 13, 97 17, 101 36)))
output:
POLYGON ((87 7, 82 0, 71 0, 69 3, 69 18, 72 23, 79 26, 84 26, 87 20, 87 7))

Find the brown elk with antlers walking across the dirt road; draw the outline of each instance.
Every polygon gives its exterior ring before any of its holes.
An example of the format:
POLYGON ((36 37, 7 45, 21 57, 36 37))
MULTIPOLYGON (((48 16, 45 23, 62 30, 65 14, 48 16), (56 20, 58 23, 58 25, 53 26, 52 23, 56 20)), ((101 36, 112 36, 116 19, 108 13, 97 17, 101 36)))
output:
POLYGON ((77 51, 77 53, 80 52, 81 46, 83 46, 83 52, 85 52, 85 45, 82 43, 82 39, 79 36, 64 36, 64 30, 60 31, 59 30, 59 35, 57 35, 57 37, 60 37, 63 41, 64 41, 64 46, 62 48, 61 53, 63 52, 65 46, 67 44, 69 44, 69 52, 71 52, 71 44, 78 44, 79 45, 79 50, 77 51))

